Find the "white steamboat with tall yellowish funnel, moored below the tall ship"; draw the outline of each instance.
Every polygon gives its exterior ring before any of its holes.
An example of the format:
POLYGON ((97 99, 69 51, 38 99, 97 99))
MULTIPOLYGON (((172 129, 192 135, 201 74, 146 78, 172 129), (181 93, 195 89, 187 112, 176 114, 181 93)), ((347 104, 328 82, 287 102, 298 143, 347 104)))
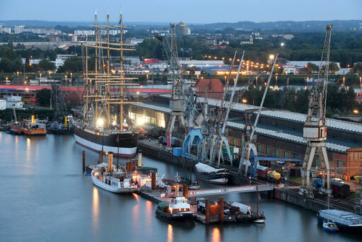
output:
MULTIPOLYGON (((108 162, 100 163, 91 172, 93 184, 104 190, 116 193, 130 193, 137 190, 132 184, 131 178, 127 177, 127 171, 117 171, 112 165, 113 154, 108 154, 108 162)), ((124 169, 125 170, 125 169, 124 169)))

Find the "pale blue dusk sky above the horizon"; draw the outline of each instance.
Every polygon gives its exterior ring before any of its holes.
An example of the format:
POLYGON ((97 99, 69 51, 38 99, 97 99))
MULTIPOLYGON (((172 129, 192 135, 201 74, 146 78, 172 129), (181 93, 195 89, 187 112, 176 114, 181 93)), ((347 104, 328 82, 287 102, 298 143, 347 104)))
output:
POLYGON ((122 5, 124 21, 218 23, 238 21, 360 20, 361 0, 0 0, 0 21, 100 21, 110 8, 117 21, 122 5))

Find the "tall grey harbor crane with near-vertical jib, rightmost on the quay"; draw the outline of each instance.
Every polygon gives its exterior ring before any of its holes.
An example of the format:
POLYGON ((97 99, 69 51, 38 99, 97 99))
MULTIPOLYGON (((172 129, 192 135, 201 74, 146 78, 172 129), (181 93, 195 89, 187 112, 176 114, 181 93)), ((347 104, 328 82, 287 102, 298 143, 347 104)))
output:
POLYGON ((302 185, 299 194, 307 197, 313 197, 313 190, 310 185, 310 168, 315 156, 320 160, 322 167, 327 170, 327 178, 325 172, 322 176, 322 188, 320 192, 331 195, 329 183, 329 161, 327 156, 326 142, 327 125, 325 122, 325 111, 327 102, 327 81, 329 72, 329 51, 331 46, 332 24, 327 24, 325 31, 325 42, 322 50, 322 58, 320 60, 320 71, 318 73, 317 85, 310 93, 310 101, 308 105, 308 115, 304 122, 303 138, 307 141, 307 149, 303 160, 302 168, 302 185), (325 187, 327 180, 327 188, 325 187))

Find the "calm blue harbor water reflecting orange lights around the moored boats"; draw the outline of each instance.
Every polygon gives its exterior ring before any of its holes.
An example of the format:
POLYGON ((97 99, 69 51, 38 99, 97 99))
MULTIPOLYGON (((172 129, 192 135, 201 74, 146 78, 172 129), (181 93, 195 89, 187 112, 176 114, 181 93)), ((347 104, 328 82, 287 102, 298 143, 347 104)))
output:
MULTIPOLYGON (((143 197, 95 188, 81 174, 84 149, 71 135, 0 132, 0 241, 361 241, 327 234, 315 212, 265 197, 259 203, 265 225, 170 225, 154 216, 156 204, 143 197)), ((86 149, 87 163, 96 159, 86 149)), ((144 157, 143 163, 168 178, 183 173, 163 161, 144 157)), ((225 198, 255 207, 253 193, 225 198)))

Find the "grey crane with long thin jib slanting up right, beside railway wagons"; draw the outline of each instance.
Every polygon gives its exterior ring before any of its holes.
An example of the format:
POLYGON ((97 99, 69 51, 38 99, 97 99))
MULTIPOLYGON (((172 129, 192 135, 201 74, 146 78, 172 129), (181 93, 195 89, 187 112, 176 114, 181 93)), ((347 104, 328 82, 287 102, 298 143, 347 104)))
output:
POLYGON ((245 176, 247 176, 247 168, 249 166, 249 162, 252 161, 252 163, 255 165, 255 166, 252 166, 252 167, 256 167, 257 163, 258 163, 257 161, 254 161, 255 156, 257 156, 257 147, 255 146, 255 144, 253 142, 253 137, 254 137, 254 134, 255 134, 255 129, 257 129, 257 122, 259 120, 260 113, 262 112, 265 97, 267 96, 267 91, 269 89, 271 76, 273 76, 273 71, 274 71, 274 67, 275 67, 275 64, 276 64, 276 59, 278 59, 278 54, 276 54, 273 66, 271 67, 271 71, 270 71, 270 74, 269 74, 269 79, 267 81, 267 85, 265 86, 264 94, 263 94, 263 97, 262 97, 262 102, 260 103, 259 110, 257 112, 257 117, 255 118, 254 125, 253 126, 251 125, 250 115, 246 115, 246 117, 245 117, 245 128, 244 128, 245 145, 243 146, 243 151, 242 151, 242 154, 241 154, 239 169, 238 169, 238 173, 241 173, 241 168, 243 167, 243 163, 245 161, 245 171, 244 171, 245 176))

